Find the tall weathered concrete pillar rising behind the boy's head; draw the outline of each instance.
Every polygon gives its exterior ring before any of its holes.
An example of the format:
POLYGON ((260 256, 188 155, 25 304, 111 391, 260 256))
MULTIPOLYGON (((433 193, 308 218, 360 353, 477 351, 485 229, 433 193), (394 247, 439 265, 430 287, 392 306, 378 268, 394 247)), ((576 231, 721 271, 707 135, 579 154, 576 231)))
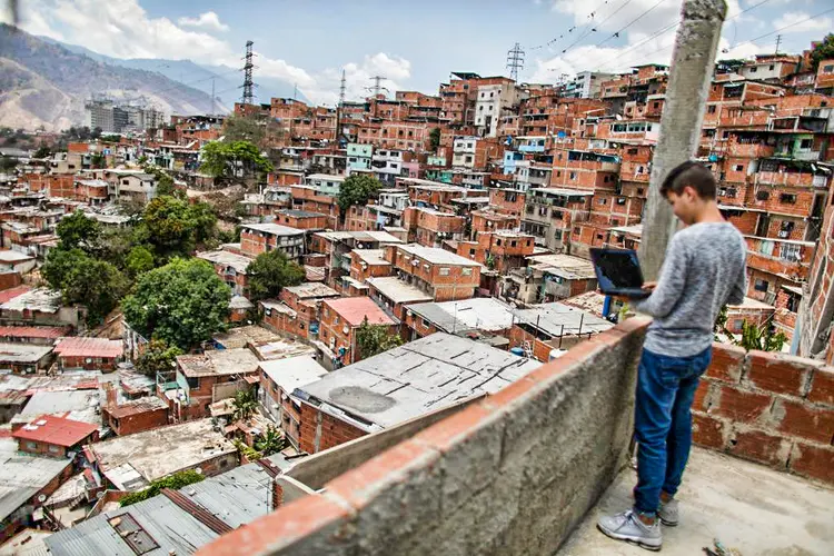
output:
POLYGON ((686 0, 683 6, 643 219, 639 258, 646 280, 657 279, 666 246, 677 230, 677 218, 661 195, 661 185, 671 169, 692 159, 698 148, 726 11, 724 0, 686 0))

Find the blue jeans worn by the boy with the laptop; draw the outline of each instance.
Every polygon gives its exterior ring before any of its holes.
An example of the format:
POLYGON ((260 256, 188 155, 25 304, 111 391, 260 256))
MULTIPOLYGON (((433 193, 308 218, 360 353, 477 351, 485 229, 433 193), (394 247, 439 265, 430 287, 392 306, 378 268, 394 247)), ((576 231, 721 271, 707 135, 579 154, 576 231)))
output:
POLYGON ((643 350, 634 409, 637 486, 634 507, 655 515, 661 490, 674 496, 681 486, 692 447, 692 403, 713 348, 692 357, 669 357, 643 350))

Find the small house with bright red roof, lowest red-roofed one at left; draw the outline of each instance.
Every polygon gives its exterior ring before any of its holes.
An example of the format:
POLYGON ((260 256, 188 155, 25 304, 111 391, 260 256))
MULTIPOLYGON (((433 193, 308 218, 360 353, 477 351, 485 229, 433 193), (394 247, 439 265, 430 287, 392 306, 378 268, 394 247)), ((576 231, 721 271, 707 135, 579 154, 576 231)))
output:
POLYGON ((99 439, 99 427, 53 415, 41 415, 26 425, 12 427, 18 449, 36 456, 66 458, 70 451, 99 439))

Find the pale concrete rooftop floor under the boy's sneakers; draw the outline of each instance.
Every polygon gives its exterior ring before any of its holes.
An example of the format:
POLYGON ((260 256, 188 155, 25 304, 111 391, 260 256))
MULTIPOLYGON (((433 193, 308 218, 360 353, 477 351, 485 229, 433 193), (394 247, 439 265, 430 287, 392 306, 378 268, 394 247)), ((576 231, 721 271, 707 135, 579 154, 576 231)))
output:
MULTIPOLYGON (((631 507, 636 480, 634 469, 624 469, 558 556, 651 554, 596 528, 603 513, 631 507)), ((681 524, 663 528, 662 554, 703 555, 714 538, 743 556, 834 554, 834 490, 802 478, 694 448, 677 498, 681 524)))

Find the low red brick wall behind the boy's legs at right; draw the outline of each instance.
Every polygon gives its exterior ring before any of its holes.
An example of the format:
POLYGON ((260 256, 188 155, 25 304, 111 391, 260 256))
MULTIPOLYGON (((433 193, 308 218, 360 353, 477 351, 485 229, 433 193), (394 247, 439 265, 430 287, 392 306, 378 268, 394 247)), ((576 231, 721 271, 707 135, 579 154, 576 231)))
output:
POLYGON ((693 404, 697 444, 834 484, 834 368, 715 344, 693 404))

